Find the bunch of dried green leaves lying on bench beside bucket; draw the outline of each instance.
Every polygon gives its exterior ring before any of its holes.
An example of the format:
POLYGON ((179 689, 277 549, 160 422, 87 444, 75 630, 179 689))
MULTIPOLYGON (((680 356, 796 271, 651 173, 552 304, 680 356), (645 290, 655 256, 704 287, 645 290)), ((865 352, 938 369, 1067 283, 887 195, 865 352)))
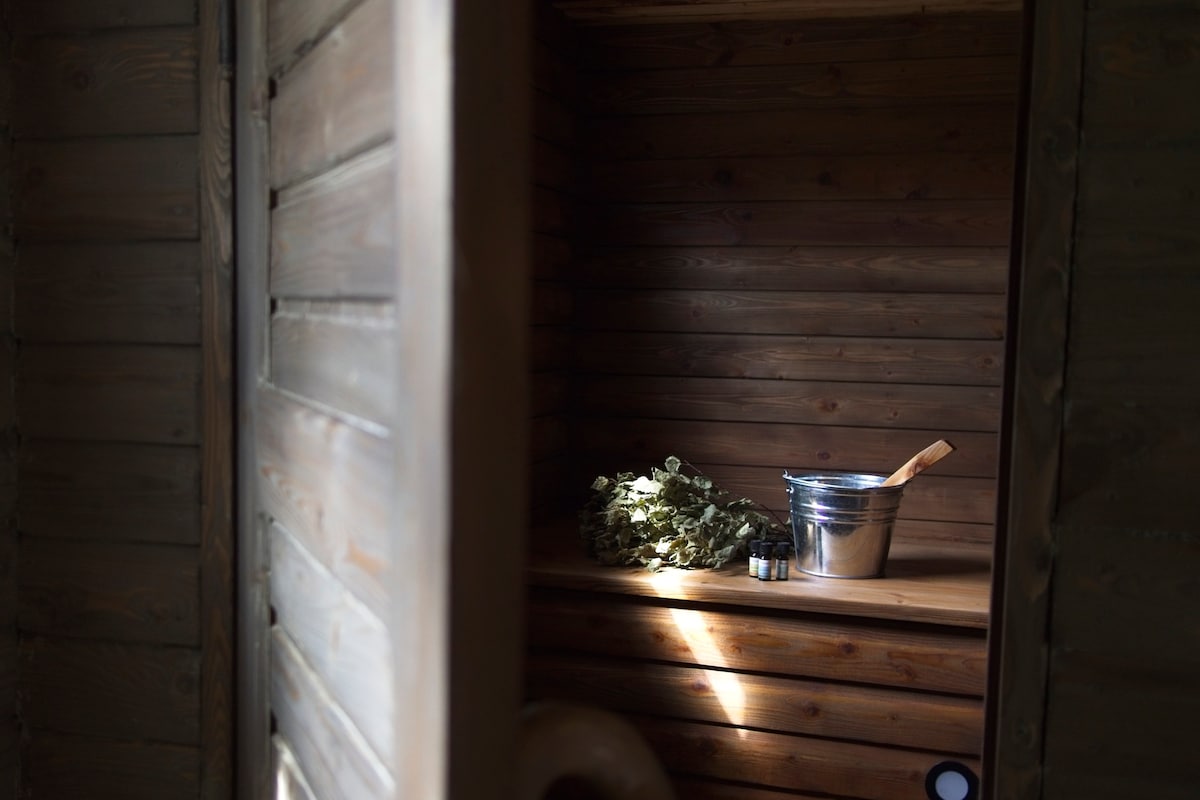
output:
POLYGON ((781 535, 754 500, 731 498, 703 475, 684 475, 682 463, 670 456, 649 476, 619 473, 592 483, 580 533, 601 564, 641 564, 652 572, 720 567, 744 555, 751 539, 781 535))

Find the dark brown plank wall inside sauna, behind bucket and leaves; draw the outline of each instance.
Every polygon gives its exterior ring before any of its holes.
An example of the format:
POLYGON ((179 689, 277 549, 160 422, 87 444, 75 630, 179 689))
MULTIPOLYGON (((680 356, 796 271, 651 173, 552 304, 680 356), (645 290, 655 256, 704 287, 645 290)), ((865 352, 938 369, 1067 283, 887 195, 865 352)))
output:
POLYGON ((1018 50, 1018 14, 541 8, 535 512, 676 455, 782 516, 785 469, 947 438, 896 536, 988 546, 1018 50))

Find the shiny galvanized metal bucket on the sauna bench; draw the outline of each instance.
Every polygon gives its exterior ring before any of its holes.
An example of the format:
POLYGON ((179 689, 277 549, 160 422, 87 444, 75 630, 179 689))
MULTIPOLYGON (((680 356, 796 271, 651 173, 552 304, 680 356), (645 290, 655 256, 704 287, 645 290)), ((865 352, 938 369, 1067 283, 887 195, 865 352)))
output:
POLYGON ((881 487, 886 475, 788 475, 796 566, 827 578, 883 575, 904 485, 881 487))

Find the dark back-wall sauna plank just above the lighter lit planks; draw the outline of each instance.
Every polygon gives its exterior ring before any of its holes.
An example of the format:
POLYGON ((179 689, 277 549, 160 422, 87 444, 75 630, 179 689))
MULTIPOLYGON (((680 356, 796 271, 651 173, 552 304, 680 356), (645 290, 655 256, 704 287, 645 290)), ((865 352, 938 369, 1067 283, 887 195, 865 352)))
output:
POLYGON ((1009 217, 1002 200, 799 200, 601 205, 586 218, 605 245, 995 247, 1009 217))

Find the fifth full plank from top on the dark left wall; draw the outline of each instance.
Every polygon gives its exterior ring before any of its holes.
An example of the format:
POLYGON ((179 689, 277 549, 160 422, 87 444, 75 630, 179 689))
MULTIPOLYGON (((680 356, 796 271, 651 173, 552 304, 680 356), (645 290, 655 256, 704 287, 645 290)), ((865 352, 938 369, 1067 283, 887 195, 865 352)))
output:
POLYGON ((22 533, 106 542, 199 542, 194 447, 29 441, 20 450, 22 533))

